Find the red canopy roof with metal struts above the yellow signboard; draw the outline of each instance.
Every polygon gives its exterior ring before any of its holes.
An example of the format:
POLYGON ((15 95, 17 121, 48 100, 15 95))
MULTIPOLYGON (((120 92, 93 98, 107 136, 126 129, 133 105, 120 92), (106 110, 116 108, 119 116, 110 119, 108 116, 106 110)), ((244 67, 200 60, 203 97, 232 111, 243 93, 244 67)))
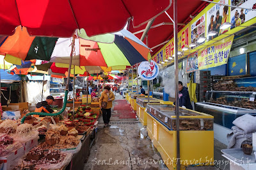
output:
MULTIPOLYGON (((204 10, 205 6, 209 3, 200 0, 179 0, 178 1, 178 29, 182 29, 186 24, 188 24, 189 20, 192 20, 199 12, 204 10), (191 16, 191 17, 190 17, 191 16), (183 25, 183 26, 182 26, 183 25)), ((173 19, 173 4, 166 11, 170 17, 173 19)), ((152 48, 160 43, 166 42, 167 40, 171 40, 173 37, 173 25, 171 25, 172 21, 168 18, 166 13, 162 13, 159 15, 153 22, 151 28, 148 31, 148 47, 152 48), (163 25, 161 25, 163 24, 163 25), (161 26, 159 26, 161 25, 161 26), (157 27, 156 27, 157 26, 157 27)), ((136 33, 137 31, 141 31, 145 29, 147 24, 144 24, 141 27, 134 28, 132 24, 129 24, 127 29, 131 31, 131 33, 136 33)), ((140 39, 143 32, 136 34, 136 36, 140 39)), ((146 44, 146 38, 143 41, 146 44)), ((167 42, 166 42, 167 43, 167 42)), ((165 44, 165 43, 164 43, 165 44)), ((163 46, 160 45, 152 49, 151 56, 154 56, 158 50, 160 50, 163 46)))

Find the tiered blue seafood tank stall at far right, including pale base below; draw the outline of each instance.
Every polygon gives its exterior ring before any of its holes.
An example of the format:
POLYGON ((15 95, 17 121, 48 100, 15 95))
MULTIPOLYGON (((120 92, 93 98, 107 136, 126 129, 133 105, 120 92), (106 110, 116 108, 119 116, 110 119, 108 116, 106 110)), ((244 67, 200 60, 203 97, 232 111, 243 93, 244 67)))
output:
POLYGON ((206 92, 205 102, 195 104, 195 110, 214 116, 214 136, 227 144, 226 136, 236 118, 244 114, 256 116, 256 89, 237 87, 233 81, 219 81, 213 88, 216 90, 206 92))

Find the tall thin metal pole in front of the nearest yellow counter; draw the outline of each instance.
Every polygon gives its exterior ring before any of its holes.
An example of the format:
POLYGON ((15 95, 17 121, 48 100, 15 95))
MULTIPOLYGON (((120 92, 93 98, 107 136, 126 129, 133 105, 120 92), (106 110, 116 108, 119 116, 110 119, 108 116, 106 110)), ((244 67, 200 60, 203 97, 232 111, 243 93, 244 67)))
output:
POLYGON ((173 0, 173 30, 174 30, 174 48, 175 48, 175 114, 176 114, 176 127, 177 127, 177 169, 180 169, 180 125, 179 125, 179 70, 178 70, 178 10, 177 10, 177 0, 173 0))

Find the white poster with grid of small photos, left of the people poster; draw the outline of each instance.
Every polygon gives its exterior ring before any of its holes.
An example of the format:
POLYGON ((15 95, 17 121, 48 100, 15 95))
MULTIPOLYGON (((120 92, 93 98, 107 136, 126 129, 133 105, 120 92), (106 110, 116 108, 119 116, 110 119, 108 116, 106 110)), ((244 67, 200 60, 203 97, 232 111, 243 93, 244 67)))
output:
POLYGON ((191 43, 197 43, 200 37, 205 37, 205 14, 191 24, 191 43))

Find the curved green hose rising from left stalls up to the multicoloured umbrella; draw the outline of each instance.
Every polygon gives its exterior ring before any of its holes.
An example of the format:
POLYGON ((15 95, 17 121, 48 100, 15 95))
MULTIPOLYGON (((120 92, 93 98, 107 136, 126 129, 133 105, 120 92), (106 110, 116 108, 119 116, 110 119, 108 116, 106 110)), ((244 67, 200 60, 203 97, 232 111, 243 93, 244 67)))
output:
POLYGON ((70 79, 70 70, 71 70, 71 63, 72 63, 72 58, 73 58, 73 52, 74 52, 74 45, 75 45, 75 35, 73 35, 72 38, 72 48, 71 48, 71 52, 70 52, 70 60, 69 60, 69 67, 68 67, 68 77, 67 77, 67 84, 66 84, 66 89, 65 89, 65 97, 64 97, 64 104, 63 107, 61 109, 61 111, 56 112, 56 113, 47 113, 47 112, 29 112, 28 114, 26 114, 22 120, 20 121, 20 123, 24 123, 24 120, 29 116, 29 115, 33 115, 33 114, 37 114, 40 116, 58 116, 60 115, 66 108, 67 105, 67 97, 68 97, 68 82, 70 79))

